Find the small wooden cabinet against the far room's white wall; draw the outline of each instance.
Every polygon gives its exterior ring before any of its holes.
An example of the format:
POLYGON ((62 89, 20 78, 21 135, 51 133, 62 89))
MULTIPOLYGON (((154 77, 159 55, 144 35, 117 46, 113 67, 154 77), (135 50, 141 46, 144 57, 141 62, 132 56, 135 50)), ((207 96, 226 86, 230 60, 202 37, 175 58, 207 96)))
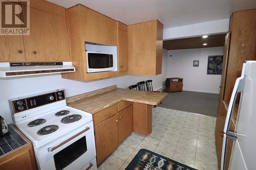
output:
POLYGON ((182 91, 183 87, 183 79, 181 78, 167 78, 165 80, 165 86, 167 91, 173 92, 173 91, 182 91))

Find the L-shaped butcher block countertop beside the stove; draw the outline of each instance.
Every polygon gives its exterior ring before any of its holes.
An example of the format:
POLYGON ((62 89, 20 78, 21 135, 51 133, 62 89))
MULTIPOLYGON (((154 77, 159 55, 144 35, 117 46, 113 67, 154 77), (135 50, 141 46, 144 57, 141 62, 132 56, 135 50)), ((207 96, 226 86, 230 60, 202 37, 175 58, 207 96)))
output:
POLYGON ((70 107, 94 114, 122 100, 148 105, 158 105, 167 94, 168 93, 163 92, 117 88, 117 86, 114 85, 72 96, 67 98, 67 103, 70 107))

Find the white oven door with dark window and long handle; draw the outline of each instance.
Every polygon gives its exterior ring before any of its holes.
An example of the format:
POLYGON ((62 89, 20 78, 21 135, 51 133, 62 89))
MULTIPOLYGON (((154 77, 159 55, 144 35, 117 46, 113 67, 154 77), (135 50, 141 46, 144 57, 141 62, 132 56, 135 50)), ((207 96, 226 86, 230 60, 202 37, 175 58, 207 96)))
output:
POLYGON ((41 170, 97 169, 92 161, 95 156, 93 123, 90 122, 39 149, 37 162, 41 170), (90 167, 85 167, 87 164, 90 167))

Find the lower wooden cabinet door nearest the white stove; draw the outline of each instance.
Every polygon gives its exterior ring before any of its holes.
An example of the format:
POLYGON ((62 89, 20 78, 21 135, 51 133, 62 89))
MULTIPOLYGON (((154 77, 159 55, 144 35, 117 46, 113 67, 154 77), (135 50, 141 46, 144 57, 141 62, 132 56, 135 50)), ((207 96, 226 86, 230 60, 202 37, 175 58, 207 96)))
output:
POLYGON ((94 128, 97 164, 100 164, 118 147, 118 118, 117 114, 94 128))

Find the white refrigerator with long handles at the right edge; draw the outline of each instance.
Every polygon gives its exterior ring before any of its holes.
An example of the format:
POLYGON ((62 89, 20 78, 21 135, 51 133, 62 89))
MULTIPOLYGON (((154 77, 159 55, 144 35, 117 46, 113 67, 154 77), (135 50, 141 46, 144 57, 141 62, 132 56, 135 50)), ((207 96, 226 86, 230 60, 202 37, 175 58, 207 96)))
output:
POLYGON ((256 169, 256 61, 245 61, 242 76, 231 95, 222 145, 221 170, 225 167, 227 140, 233 140, 230 170, 256 169), (241 92, 236 129, 229 131, 234 102, 241 92))

